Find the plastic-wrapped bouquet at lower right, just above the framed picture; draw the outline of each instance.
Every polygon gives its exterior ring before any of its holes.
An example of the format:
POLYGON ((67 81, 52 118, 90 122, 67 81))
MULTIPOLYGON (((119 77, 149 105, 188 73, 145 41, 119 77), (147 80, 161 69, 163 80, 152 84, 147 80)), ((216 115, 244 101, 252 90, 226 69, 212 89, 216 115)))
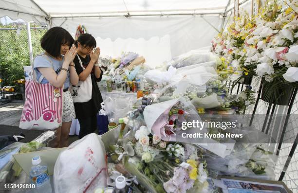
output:
POLYGON ((267 148, 264 146, 266 144, 239 143, 225 158, 209 153, 205 154, 204 158, 208 168, 218 175, 274 180, 274 171, 278 171, 276 168, 277 156, 266 151, 267 148))

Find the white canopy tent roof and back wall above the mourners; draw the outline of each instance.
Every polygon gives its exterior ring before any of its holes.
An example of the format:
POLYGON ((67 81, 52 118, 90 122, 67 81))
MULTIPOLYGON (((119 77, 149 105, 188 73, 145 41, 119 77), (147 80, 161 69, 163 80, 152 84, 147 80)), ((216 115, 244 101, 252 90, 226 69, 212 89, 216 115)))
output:
POLYGON ((233 0, 0 0, 0 17, 46 22, 72 35, 83 24, 101 55, 132 51, 157 66, 209 46, 233 7, 233 0))

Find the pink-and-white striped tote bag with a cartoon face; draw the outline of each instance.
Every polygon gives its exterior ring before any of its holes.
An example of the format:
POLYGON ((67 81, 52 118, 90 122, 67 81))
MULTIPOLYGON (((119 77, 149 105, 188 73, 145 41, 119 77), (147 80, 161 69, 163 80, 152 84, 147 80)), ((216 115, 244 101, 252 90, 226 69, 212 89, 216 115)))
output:
POLYGON ((25 83, 25 104, 19 122, 21 129, 50 130, 62 123, 63 88, 55 88, 50 83, 40 84, 42 79, 25 83))

